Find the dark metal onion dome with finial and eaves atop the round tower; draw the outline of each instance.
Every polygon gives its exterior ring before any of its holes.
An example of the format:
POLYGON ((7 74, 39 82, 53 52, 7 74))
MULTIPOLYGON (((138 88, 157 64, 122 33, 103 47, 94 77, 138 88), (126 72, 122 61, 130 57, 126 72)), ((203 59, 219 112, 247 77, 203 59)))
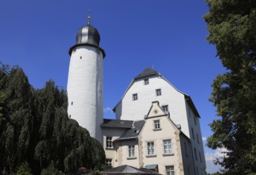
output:
POLYGON ((100 34, 98 30, 90 25, 90 17, 88 25, 83 26, 81 29, 77 32, 77 44, 73 45, 69 49, 69 55, 71 55, 73 49, 75 49, 77 46, 80 45, 90 45, 93 47, 96 47, 101 50, 103 53, 103 57, 105 56, 104 49, 100 48, 100 34))

